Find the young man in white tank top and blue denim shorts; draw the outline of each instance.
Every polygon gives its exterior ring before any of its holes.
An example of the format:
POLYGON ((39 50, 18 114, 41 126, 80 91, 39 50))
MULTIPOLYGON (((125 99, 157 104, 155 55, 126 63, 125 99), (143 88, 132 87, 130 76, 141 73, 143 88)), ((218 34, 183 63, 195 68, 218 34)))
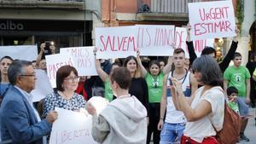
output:
POLYGON ((172 85, 171 78, 177 78, 183 85, 183 93, 190 97, 197 89, 197 82, 194 75, 185 69, 185 53, 183 49, 175 49, 173 52, 173 63, 175 69, 165 76, 163 95, 160 104, 160 121, 158 129, 161 130, 160 144, 169 144, 175 141, 180 141, 180 138, 185 129, 187 122, 183 112, 177 111, 173 101, 170 85, 172 85), (164 116, 166 112, 165 124, 164 116))

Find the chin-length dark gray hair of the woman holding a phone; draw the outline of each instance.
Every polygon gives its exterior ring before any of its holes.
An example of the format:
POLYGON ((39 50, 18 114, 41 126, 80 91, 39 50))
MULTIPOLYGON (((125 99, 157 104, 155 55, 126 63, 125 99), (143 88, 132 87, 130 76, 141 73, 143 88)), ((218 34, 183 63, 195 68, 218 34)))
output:
POLYGON ((223 84, 222 72, 216 60, 209 55, 201 55, 195 59, 192 65, 195 72, 201 72, 201 83, 211 86, 221 86, 223 84))

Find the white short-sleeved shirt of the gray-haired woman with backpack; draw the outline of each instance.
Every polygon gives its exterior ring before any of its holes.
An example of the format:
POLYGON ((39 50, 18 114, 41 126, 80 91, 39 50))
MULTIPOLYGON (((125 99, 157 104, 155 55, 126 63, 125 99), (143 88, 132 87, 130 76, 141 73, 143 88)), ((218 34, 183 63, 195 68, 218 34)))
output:
POLYGON ((194 122, 187 122, 183 131, 185 136, 197 142, 203 141, 207 136, 216 135, 214 128, 221 130, 224 123, 224 90, 216 86, 201 95, 203 89, 204 86, 195 91, 195 98, 191 103, 191 108, 195 109, 201 101, 208 101, 211 104, 212 112, 194 122), (214 128, 212 125, 214 125, 214 128))

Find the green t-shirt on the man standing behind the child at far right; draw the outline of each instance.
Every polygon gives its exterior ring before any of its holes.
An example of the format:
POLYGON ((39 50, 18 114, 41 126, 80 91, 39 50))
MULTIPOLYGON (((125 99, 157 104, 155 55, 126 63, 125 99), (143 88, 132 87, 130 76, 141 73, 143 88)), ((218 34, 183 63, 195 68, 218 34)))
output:
POLYGON ((229 81, 228 87, 236 87, 238 96, 245 97, 247 95, 246 81, 248 78, 251 78, 251 75, 245 66, 239 66, 238 68, 229 66, 224 72, 224 79, 229 81))

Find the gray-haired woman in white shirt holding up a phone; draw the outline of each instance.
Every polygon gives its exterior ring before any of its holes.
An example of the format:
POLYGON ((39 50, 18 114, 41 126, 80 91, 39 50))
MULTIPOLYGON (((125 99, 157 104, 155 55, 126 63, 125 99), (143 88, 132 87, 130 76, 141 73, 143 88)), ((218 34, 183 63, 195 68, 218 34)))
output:
POLYGON ((224 90, 218 63, 209 55, 201 55, 192 65, 195 79, 202 85, 187 101, 176 78, 172 78, 172 100, 177 110, 183 111, 188 123, 181 143, 218 144, 215 138, 224 123, 224 90))

